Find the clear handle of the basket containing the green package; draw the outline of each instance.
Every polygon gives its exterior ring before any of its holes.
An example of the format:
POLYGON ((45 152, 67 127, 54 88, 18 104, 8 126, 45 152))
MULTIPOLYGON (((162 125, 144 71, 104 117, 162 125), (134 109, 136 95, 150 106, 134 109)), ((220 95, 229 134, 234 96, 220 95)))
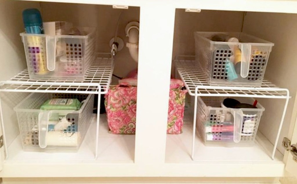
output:
POLYGON ((52 111, 42 111, 38 114, 38 144, 40 148, 46 148, 46 136, 48 134, 48 121, 52 111))

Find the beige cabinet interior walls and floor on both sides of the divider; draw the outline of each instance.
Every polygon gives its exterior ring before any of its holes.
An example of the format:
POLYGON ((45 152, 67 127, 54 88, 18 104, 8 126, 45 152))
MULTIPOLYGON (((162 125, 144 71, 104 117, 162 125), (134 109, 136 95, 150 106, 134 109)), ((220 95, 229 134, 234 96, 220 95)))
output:
MULTIPOLYGON (((90 4, 66 4, 52 2, 30 2, 30 1, 2 1, 0 6, 1 17, 7 19, 0 20, 0 36, 4 37, 4 43, 1 44, 1 50, 5 55, 2 64, 5 67, 0 68, 1 80, 7 80, 16 73, 26 68, 26 60, 23 51, 19 33, 23 31, 21 12, 25 8, 39 8, 42 13, 43 21, 63 20, 72 22, 75 25, 89 26, 97 28, 97 52, 110 52, 109 40, 114 36, 116 24, 121 11, 118 36, 127 42, 125 35, 125 26, 130 21, 139 21, 141 9, 139 7, 129 7, 128 10, 113 9, 112 6, 90 5, 90 4), (11 9, 10 9, 11 8, 11 9), (90 16, 91 15, 91 16, 90 16), (9 24, 8 24, 9 22, 9 24), (5 62, 5 63, 4 63, 5 62)), ((141 26, 141 23, 140 23, 141 26)), ((215 11, 202 10, 200 13, 185 12, 184 9, 176 9, 175 27, 173 38, 173 54, 174 59, 178 55, 195 55, 194 31, 233 31, 244 32, 254 36, 266 39, 275 44, 269 57, 266 69, 265 79, 270 80, 279 87, 290 90, 290 96, 285 121, 282 132, 279 137, 277 160, 282 160, 284 149, 281 146, 282 137, 288 135, 290 131, 290 121, 292 109, 296 95, 296 78, 297 65, 295 60, 297 53, 297 15, 284 13, 259 13, 259 12, 236 12, 236 11, 215 11)), ((163 43, 166 47, 166 43, 163 43)), ((141 46, 140 46, 141 47, 141 46)), ((153 54, 153 53, 152 53, 153 54)), ((157 66, 156 66, 157 67, 157 66)), ((132 60, 127 47, 118 52, 115 57, 114 74, 124 77, 131 70, 137 68, 137 63, 132 60)), ((172 73, 175 70, 172 65, 172 73)), ((113 83, 116 83, 113 78, 113 83)), ((18 139, 19 130, 18 122, 13 107, 18 104, 26 95, 25 93, 3 93, 2 108, 4 113, 4 128, 6 136, 6 144, 8 147, 8 162, 26 162, 32 161, 48 161, 50 158, 61 158, 58 162, 67 162, 69 160, 78 161, 94 161, 94 141, 96 134, 92 132, 96 124, 92 123, 89 133, 84 140, 78 153, 30 153, 23 152, 20 140, 18 139), (13 147, 13 148, 12 148, 13 147)), ((234 148, 228 151, 226 148, 207 148, 203 145, 198 147, 202 151, 219 151, 226 156, 223 160, 256 160, 271 161, 269 155, 264 151, 265 145, 268 147, 277 135, 279 121, 281 119, 283 105, 285 100, 275 99, 257 99, 264 107, 265 112, 259 125, 259 140, 263 140, 261 149, 234 148), (263 148, 263 149, 262 149, 263 148), (204 149, 204 150, 203 150, 204 149), (236 151, 243 151, 249 155, 259 155, 255 157, 243 158, 244 155, 233 157, 236 151), (234 159, 233 159, 234 158, 234 159), (261 159, 262 158, 262 159, 261 159)), ((187 101, 192 100, 187 96, 187 101)), ((192 113, 193 108, 189 106, 185 111, 184 133, 181 135, 167 135, 166 145, 166 162, 191 162, 190 148, 192 140, 192 113)), ((95 118, 94 118, 95 119, 95 118)), ((99 154, 97 161, 99 163, 116 162, 116 163, 133 163, 134 161, 134 135, 112 135, 107 133, 107 121, 105 115, 100 117, 100 133, 99 133, 99 154)), ((94 121, 95 122, 95 121, 94 121)), ((205 153, 205 157, 201 160, 209 160, 209 155, 205 153)), ((57 161, 57 160, 56 160, 57 161)))

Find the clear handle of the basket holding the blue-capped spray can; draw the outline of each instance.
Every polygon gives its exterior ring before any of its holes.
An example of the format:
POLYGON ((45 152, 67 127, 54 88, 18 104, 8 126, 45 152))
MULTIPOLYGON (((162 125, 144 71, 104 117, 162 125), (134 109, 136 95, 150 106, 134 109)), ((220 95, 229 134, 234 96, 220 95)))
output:
POLYGON ((56 68, 56 36, 46 36, 46 64, 49 71, 56 68))

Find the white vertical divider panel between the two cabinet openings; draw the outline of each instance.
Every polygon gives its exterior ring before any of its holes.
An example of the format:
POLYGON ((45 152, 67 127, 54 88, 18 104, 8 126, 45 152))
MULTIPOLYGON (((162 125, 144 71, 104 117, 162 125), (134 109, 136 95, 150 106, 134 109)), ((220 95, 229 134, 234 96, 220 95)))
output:
POLYGON ((135 163, 165 162, 175 8, 140 7, 135 163))

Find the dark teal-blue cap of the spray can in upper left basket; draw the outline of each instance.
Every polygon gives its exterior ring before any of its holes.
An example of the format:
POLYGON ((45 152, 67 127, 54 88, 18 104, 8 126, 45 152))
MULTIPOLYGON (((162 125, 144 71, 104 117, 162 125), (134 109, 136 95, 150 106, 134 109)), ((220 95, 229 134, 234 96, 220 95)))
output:
POLYGON ((23 11, 23 22, 26 26, 42 25, 40 11, 36 8, 29 8, 23 11))

